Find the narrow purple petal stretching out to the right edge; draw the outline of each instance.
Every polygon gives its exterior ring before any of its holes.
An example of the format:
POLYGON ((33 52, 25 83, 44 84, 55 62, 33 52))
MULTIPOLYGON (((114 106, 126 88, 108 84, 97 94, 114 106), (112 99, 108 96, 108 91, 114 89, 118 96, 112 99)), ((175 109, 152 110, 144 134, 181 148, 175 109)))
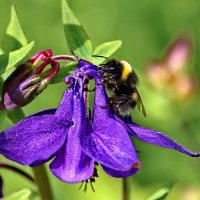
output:
POLYGON ((162 134, 161 132, 147 129, 134 123, 127 125, 129 127, 129 130, 131 130, 130 134, 137 137, 139 140, 143 142, 147 142, 149 144, 154 144, 164 148, 174 149, 182 153, 185 153, 187 155, 190 155, 192 157, 200 156, 199 153, 191 152, 190 150, 184 148, 180 144, 177 144, 176 142, 174 142, 172 139, 162 134))

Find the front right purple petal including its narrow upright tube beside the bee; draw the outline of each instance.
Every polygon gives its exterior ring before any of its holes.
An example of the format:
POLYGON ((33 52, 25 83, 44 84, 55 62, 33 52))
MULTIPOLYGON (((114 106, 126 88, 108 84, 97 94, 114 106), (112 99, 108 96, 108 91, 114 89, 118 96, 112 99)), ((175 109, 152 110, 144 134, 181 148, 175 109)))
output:
POLYGON ((109 109, 102 108, 107 103, 105 87, 97 82, 93 125, 82 133, 81 145, 95 161, 115 170, 127 171, 138 158, 126 129, 114 120, 109 109))

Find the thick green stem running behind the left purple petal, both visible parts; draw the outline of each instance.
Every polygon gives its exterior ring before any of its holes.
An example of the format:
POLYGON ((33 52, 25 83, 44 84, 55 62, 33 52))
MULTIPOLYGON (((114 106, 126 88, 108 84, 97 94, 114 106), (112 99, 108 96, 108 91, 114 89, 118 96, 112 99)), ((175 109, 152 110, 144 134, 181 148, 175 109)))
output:
MULTIPOLYGON (((16 109, 14 111, 8 112, 8 117, 13 123, 25 118, 25 114, 22 109, 16 109)), ((38 190, 42 200, 53 200, 53 192, 51 189, 50 181, 47 175, 47 171, 44 165, 34 167, 33 174, 35 177, 35 182, 38 186, 38 190)))

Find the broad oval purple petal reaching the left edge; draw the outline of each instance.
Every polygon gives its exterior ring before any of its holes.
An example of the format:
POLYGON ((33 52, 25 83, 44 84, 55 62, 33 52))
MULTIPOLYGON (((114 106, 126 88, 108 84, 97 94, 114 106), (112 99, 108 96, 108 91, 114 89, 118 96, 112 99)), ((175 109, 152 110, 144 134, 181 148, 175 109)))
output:
POLYGON ((0 134, 0 154, 22 165, 41 164, 63 145, 69 122, 54 115, 25 118, 0 134))

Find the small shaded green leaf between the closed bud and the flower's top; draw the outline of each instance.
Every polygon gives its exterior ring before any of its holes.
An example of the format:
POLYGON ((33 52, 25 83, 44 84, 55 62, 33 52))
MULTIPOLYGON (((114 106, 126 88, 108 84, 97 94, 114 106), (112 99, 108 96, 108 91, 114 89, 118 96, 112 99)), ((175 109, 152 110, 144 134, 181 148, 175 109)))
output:
POLYGON ((68 63, 67 65, 61 66, 58 74, 53 78, 51 84, 64 82, 64 79, 67 75, 72 73, 72 69, 77 67, 77 63, 68 63))

